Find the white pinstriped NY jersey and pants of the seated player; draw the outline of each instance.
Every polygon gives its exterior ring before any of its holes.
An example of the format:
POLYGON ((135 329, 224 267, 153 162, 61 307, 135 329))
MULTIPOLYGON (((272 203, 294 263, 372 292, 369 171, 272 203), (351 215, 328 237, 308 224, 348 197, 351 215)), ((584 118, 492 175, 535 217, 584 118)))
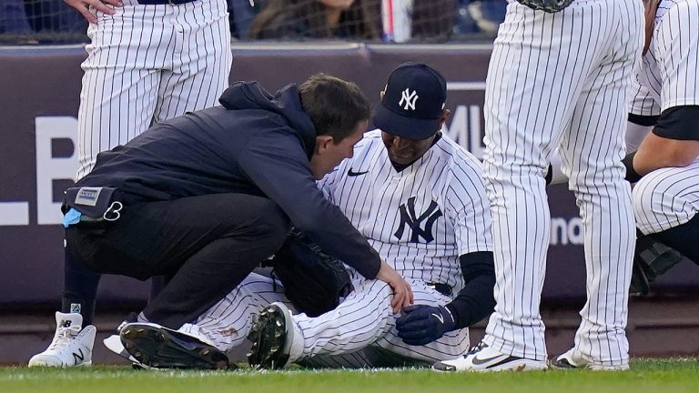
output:
MULTIPOLYGON (((418 161, 398 172, 380 131, 375 130, 319 186, 380 256, 406 278, 415 304, 444 306, 451 297, 431 284, 449 285, 455 295, 463 287, 459 257, 491 250, 480 167, 474 156, 441 136, 418 161)), ((390 287, 352 270, 350 274, 355 290, 339 307, 320 317, 294 316, 304 338, 302 363, 327 367, 431 364, 457 358, 469 348, 465 328, 426 346, 404 344, 395 328, 390 287)), ((269 278, 252 275, 198 319, 198 333, 218 348, 232 348, 248 335, 252 314, 279 300, 285 299, 274 291, 269 278)))

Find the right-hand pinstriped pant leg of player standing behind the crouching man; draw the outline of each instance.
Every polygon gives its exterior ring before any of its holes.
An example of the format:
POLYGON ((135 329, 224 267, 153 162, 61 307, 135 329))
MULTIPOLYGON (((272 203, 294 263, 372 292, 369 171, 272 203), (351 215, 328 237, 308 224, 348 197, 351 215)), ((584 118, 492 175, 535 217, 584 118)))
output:
POLYGON ((224 0, 172 7, 171 64, 160 74, 155 121, 218 105, 233 61, 224 0))

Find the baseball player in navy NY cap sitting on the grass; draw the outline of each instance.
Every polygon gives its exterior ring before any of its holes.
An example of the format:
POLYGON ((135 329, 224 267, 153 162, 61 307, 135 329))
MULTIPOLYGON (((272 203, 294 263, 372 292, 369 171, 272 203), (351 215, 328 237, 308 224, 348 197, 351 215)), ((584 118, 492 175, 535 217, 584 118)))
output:
MULTIPOLYGON (((466 352, 468 327, 494 306, 491 219, 480 163, 440 132, 450 115, 446 92, 444 78, 428 65, 400 65, 381 93, 373 119, 380 129, 319 181, 328 200, 410 283, 414 305, 397 314, 389 286, 349 267, 353 291, 334 309, 310 312, 304 297, 294 302, 282 293, 284 280, 252 274, 180 332, 221 351, 249 333, 248 360, 256 368, 431 365, 466 352)), ((135 324, 121 338, 136 355, 153 353, 166 333, 135 324), (137 329, 151 339, 132 338, 137 329)))

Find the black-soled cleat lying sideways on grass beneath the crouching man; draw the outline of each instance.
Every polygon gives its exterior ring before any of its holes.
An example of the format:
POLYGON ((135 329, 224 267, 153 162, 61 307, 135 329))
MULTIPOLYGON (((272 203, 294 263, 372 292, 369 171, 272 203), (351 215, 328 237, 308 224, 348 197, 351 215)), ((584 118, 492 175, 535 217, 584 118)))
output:
POLYGON ((149 368, 235 368, 218 348, 156 324, 128 324, 119 336, 128 353, 149 368))

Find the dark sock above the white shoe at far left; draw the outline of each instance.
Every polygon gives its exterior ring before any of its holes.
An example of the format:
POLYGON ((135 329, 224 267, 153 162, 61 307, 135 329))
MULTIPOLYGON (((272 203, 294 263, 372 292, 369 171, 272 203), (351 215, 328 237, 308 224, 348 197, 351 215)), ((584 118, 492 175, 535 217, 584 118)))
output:
POLYGON ((92 325, 97 286, 102 276, 78 264, 67 248, 64 273, 61 312, 79 313, 83 316, 83 327, 92 325))

